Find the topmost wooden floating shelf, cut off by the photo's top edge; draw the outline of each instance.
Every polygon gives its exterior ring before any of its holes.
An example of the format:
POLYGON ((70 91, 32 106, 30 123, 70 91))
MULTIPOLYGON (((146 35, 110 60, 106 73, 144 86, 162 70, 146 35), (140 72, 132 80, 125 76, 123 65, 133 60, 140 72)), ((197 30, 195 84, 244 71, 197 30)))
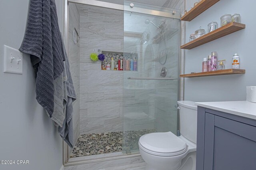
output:
POLYGON ((191 21, 219 1, 220 0, 202 0, 194 8, 189 10, 184 16, 182 16, 181 20, 191 21))

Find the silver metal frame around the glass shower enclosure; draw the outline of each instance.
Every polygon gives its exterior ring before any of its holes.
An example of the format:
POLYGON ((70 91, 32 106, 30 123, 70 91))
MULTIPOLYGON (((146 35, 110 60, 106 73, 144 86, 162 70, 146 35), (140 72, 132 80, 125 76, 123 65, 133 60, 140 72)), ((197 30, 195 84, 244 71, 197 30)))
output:
MULTIPOLYGON (((175 12, 161 12, 161 11, 156 11, 156 10, 149 10, 149 9, 144 9, 144 8, 137 8, 137 7, 130 7, 130 6, 125 6, 125 5, 120 5, 120 4, 114 4, 114 3, 109 3, 109 2, 103 2, 103 1, 98 1, 98 0, 64 0, 63 4, 63 41, 66 46, 66 50, 68 53, 68 10, 69 10, 69 3, 75 3, 75 4, 84 4, 84 5, 90 5, 90 6, 98 6, 102 8, 110 8, 110 9, 115 9, 115 10, 121 10, 121 11, 130 11, 130 12, 138 12, 142 14, 149 14, 149 15, 154 15, 154 16, 162 16, 166 18, 173 18, 173 19, 179 19, 180 20, 180 15, 176 14, 175 12)), ((181 23, 181 22, 180 22, 181 23)), ((181 30, 179 29, 179 42, 181 42, 181 30)), ((180 43, 179 43, 180 44, 180 43)), ((178 71, 180 71, 180 50, 178 53, 178 71)), ((178 100, 180 99, 180 77, 178 76, 178 100)), ((182 90, 183 93, 184 90, 182 90)), ((136 157, 140 156, 140 154, 132 154, 132 155, 124 155, 124 156, 114 156, 114 157, 104 157, 100 158, 97 160, 77 160, 77 161, 69 161, 69 148, 68 144, 62 140, 62 164, 64 166, 72 166, 72 165, 79 165, 79 164, 86 164, 86 163, 93 163, 93 162, 102 162, 106 160, 116 160, 116 159, 122 159, 122 158, 131 158, 131 157, 136 157)))

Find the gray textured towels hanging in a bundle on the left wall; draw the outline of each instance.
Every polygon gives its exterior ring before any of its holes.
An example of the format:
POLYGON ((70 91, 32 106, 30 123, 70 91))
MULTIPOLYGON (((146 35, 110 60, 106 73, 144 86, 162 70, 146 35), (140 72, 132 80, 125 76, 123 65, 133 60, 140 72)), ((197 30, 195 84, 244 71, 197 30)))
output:
POLYGON ((54 0, 30 0, 26 32, 19 49, 36 69, 36 99, 73 147, 72 102, 76 99, 58 26, 54 0), (65 61, 65 62, 64 62, 65 61))

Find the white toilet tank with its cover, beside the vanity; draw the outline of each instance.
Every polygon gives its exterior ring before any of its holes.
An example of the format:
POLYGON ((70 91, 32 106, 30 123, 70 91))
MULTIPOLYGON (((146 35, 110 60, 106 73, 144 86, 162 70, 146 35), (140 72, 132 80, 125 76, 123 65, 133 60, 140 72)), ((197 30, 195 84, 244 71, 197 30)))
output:
POLYGON ((196 143, 197 106, 193 101, 178 101, 180 106, 180 134, 196 143))

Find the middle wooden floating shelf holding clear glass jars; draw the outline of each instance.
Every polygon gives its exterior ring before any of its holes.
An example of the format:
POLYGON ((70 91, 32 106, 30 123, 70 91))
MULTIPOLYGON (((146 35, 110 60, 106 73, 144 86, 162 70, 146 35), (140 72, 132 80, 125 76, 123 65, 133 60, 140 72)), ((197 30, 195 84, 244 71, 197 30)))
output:
POLYGON ((208 34, 205 34, 199 38, 196 38, 195 40, 188 42, 182 46, 180 46, 181 49, 192 49, 194 47, 198 47, 200 45, 203 45, 205 43, 211 42, 213 40, 216 40, 218 38, 224 37, 228 34, 232 34, 233 32, 237 32, 239 30, 242 30, 245 28, 245 24, 240 24, 237 22, 231 22, 225 26, 222 26, 208 34))

